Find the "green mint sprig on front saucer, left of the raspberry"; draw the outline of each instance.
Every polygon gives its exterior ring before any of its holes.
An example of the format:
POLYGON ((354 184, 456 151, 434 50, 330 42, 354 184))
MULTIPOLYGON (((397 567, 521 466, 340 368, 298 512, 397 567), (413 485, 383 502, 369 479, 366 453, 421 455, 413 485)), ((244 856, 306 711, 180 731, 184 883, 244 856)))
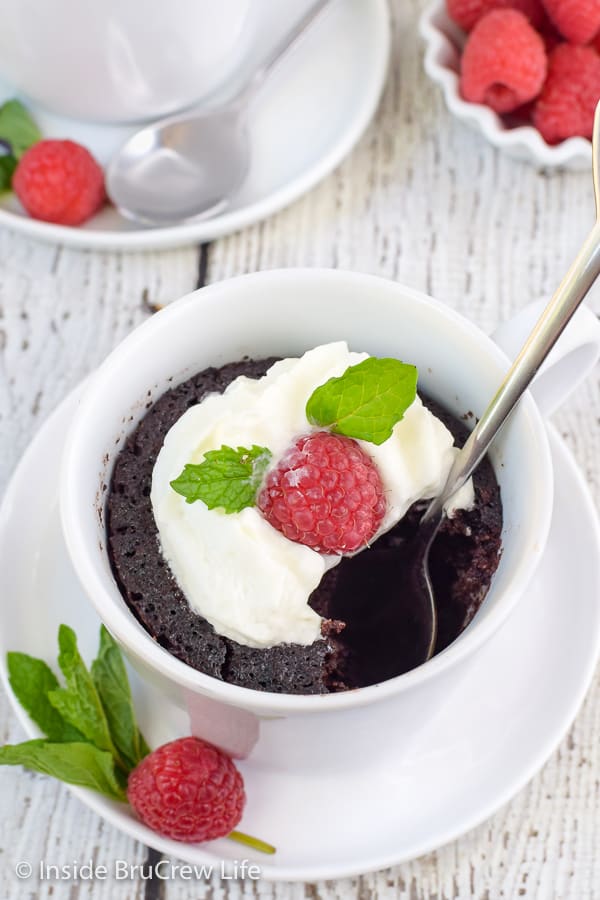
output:
POLYGON ((58 645, 64 687, 41 659, 7 655, 15 696, 47 740, 0 747, 0 764, 22 765, 125 801, 127 776, 150 750, 135 721, 121 651, 102 626, 90 673, 67 625, 59 628, 58 645))

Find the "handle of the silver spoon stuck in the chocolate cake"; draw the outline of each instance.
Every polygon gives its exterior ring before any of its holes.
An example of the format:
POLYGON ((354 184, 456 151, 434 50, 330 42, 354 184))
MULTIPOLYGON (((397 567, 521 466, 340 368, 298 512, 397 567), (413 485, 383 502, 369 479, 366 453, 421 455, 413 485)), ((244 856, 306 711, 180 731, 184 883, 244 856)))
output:
POLYGON ((596 107, 592 143, 596 224, 552 299, 538 319, 523 349, 464 447, 454 460, 442 493, 432 501, 423 521, 440 516, 448 499, 467 481, 488 447, 529 387, 565 326, 600 275, 600 103, 596 107))

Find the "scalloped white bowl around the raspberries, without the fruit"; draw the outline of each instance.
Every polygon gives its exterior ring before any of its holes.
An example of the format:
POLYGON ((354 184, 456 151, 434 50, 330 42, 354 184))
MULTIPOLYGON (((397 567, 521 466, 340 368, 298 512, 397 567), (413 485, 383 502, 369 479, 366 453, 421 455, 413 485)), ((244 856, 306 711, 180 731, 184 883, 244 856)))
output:
POLYGON ((515 159, 545 169, 591 169, 592 145, 585 138, 569 138, 550 146, 532 125, 508 127, 489 107, 463 100, 459 90, 459 69, 465 35, 448 16, 445 0, 434 0, 425 9, 419 31, 425 41, 425 71, 440 85, 446 105, 454 116, 515 159))

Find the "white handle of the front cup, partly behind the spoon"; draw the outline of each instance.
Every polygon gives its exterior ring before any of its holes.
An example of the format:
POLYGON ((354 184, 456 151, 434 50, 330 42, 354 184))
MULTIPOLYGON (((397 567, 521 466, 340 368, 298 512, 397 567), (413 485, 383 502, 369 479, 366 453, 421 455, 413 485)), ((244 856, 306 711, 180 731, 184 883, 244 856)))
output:
MULTIPOLYGON (((544 299, 528 304, 492 334, 509 359, 515 359, 546 305, 544 299)), ((600 319, 580 306, 532 382, 530 391, 542 415, 557 410, 599 359, 600 319)))

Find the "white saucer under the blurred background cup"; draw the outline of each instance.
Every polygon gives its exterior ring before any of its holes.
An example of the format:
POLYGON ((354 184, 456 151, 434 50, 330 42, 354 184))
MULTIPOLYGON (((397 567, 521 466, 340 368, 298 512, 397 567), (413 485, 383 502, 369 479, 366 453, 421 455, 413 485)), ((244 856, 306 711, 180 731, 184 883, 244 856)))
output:
MULTIPOLYGON (((265 25, 252 56, 243 62, 244 71, 250 71, 265 46, 289 27, 288 5, 255 2, 262 6, 265 25)), ((308 0, 295 0, 294 8, 300 14, 309 5, 308 0)), ((222 215, 169 228, 143 228, 106 207, 84 226, 68 228, 31 219, 8 193, 0 194, 0 226, 73 247, 133 250, 212 240, 264 219, 308 191, 350 152, 377 108, 389 53, 386 0, 336 0, 257 97, 249 117, 250 172, 222 215)), ((0 102, 14 94, 0 83, 0 102)), ((79 141, 102 164, 135 130, 61 118, 26 102, 44 136, 79 141)))

